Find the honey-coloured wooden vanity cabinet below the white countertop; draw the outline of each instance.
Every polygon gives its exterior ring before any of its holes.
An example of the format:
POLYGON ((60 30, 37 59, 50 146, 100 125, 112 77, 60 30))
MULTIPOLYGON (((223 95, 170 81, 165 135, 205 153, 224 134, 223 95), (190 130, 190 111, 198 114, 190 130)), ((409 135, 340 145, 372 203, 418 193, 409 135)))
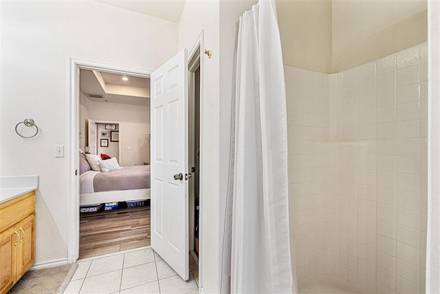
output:
POLYGON ((0 293, 7 293, 35 261, 35 192, 0 204, 0 293))

